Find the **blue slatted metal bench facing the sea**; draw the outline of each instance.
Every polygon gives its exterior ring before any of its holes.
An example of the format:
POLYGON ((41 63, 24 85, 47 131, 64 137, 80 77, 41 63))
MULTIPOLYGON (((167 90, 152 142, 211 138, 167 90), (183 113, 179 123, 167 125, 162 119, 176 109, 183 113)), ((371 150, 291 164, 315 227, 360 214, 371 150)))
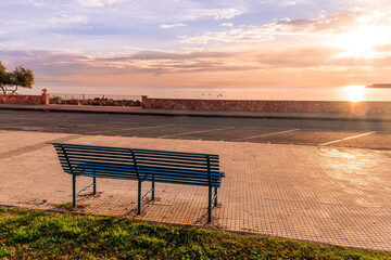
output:
POLYGON ((76 177, 91 177, 92 183, 78 193, 93 186, 97 178, 138 181, 138 213, 141 202, 149 193, 154 199, 155 182, 198 185, 209 187, 207 221, 212 220, 212 205, 217 206, 217 188, 224 172, 219 171, 218 155, 178 153, 169 151, 122 148, 94 145, 53 144, 63 170, 73 176, 73 206, 76 206, 76 177), (152 182, 152 187, 141 196, 141 184, 152 182), (214 194, 213 193, 214 188, 214 194))

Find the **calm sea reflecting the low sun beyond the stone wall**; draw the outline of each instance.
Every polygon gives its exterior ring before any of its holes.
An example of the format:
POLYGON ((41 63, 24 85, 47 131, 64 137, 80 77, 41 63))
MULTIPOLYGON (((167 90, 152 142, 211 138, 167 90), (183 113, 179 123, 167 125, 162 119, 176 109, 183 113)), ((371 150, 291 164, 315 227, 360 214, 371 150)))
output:
POLYGON ((205 100, 285 100, 285 101, 391 101, 391 88, 365 88, 364 86, 343 87, 74 87, 34 86, 23 89, 20 94, 39 94, 48 89, 51 95, 67 96, 85 94, 127 99, 149 95, 161 99, 205 99, 205 100))

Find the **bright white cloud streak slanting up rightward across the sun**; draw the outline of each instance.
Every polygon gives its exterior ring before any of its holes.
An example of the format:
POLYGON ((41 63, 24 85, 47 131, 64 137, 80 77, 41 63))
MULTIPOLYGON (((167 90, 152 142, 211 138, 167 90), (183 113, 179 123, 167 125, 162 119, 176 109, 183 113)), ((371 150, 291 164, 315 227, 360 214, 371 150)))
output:
MULTIPOLYGON (((254 43, 277 41, 283 37, 295 37, 301 43, 311 37, 313 44, 324 41, 325 37, 340 37, 351 34, 363 26, 383 26, 391 28, 391 10, 345 11, 313 20, 290 20, 289 17, 264 25, 242 25, 224 31, 207 31, 198 36, 180 36, 179 42, 187 44, 254 43)), ((228 26, 227 26, 228 27, 228 26)), ((369 36, 368 36, 369 37, 369 36)), ((286 42, 285 42, 286 43, 286 42)))

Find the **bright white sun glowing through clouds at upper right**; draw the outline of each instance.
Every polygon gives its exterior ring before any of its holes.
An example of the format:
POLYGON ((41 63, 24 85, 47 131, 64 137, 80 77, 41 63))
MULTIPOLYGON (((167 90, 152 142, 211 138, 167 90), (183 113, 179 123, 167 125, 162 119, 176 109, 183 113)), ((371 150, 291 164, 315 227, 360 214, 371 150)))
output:
POLYGON ((390 28, 384 26, 364 26, 339 35, 331 44, 343 50, 341 56, 376 55, 375 47, 390 41, 390 28))

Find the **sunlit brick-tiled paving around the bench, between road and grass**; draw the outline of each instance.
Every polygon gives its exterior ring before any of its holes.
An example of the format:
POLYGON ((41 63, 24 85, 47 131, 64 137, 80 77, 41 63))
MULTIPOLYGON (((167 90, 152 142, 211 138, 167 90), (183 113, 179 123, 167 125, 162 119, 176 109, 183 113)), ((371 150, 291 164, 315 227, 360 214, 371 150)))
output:
MULTIPOLYGON (((0 131, 0 204, 52 209, 72 179, 46 142, 213 153, 226 172, 213 223, 231 231, 391 250, 390 152, 283 144, 0 131)), ((78 178, 78 187, 89 184, 78 178)), ((150 183, 143 183, 147 191, 150 183)), ((206 225, 205 187, 156 184, 136 214, 137 182, 98 179, 78 210, 206 225)))

